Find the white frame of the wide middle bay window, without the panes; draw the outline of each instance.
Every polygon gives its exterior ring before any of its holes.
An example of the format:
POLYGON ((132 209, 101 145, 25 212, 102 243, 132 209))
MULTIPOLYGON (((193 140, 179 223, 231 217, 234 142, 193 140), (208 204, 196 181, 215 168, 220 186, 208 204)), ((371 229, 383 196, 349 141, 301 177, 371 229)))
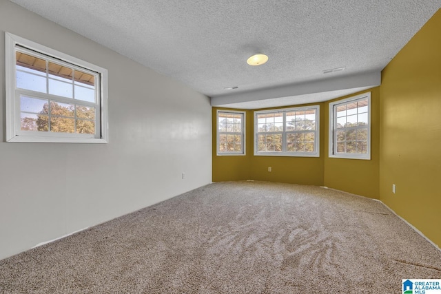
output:
POLYGON ((271 110, 260 110, 254 112, 254 155, 255 156, 296 156, 296 157, 320 157, 320 105, 311 105, 293 108, 280 108, 271 110), (314 150, 315 152, 289 152, 287 151, 287 132, 286 130, 286 114, 287 112, 298 112, 302 110, 316 110, 316 130, 314 131, 314 150), (258 151, 258 114, 283 113, 283 134, 282 134, 282 151, 268 152, 258 151))

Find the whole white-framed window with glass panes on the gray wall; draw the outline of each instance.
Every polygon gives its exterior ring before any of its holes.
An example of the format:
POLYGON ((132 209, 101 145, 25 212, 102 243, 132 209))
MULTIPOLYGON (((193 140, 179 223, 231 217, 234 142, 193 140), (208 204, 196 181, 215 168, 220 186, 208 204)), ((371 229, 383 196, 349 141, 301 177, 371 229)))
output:
POLYGON ((8 142, 107 143, 107 70, 6 33, 8 142))

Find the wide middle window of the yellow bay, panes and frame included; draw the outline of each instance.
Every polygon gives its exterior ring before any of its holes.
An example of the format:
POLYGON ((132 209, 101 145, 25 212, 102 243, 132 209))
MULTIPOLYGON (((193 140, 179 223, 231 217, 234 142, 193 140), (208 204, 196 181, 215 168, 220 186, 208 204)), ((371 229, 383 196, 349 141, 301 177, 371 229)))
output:
POLYGON ((320 107, 254 112, 254 155, 320 156, 320 107))

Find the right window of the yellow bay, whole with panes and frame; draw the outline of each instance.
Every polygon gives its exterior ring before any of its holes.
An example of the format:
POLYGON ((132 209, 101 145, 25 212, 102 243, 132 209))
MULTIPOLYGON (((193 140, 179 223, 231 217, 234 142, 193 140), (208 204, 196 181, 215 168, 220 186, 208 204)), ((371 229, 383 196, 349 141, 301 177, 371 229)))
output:
POLYGON ((329 103, 329 157, 371 159, 371 93, 329 103))

